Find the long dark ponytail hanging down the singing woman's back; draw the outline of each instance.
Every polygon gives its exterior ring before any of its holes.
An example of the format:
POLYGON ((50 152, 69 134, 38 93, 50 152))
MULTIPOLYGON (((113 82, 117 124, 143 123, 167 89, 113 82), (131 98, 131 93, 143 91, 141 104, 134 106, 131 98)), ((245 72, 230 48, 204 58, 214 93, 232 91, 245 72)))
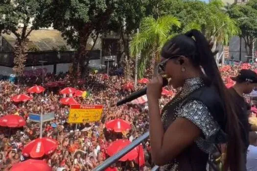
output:
POLYGON ((226 112, 226 118, 224 119, 227 123, 225 131, 228 134, 224 170, 240 171, 240 168, 242 167, 242 138, 240 135, 238 111, 236 111, 230 92, 224 85, 219 69, 210 50, 209 43, 204 35, 197 30, 191 30, 186 33, 186 36, 195 40, 196 55, 199 58, 199 64, 203 67, 206 76, 211 79, 211 84, 216 87, 219 92, 219 96, 223 101, 226 112))

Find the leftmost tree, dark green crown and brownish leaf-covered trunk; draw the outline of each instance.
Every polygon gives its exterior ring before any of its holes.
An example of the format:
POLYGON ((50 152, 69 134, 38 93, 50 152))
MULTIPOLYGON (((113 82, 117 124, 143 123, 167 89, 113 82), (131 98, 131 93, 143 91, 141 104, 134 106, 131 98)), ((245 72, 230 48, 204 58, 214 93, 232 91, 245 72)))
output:
POLYGON ((26 62, 28 36, 40 27, 49 27, 47 9, 51 0, 2 0, 0 5, 0 32, 13 33, 16 37, 14 47, 14 71, 23 74, 26 62))

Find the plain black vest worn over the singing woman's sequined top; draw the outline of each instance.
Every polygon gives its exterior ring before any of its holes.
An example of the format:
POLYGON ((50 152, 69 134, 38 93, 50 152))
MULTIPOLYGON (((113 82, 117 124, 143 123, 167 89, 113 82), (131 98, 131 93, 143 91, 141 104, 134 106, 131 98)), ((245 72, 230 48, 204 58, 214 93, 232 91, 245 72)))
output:
MULTIPOLYGON (((226 125, 226 115, 224 114, 224 105, 220 99, 218 92, 214 86, 203 85, 195 90, 193 90, 187 97, 179 100, 176 104, 167 107, 166 110, 170 115, 165 119, 164 129, 168 127, 174 120, 176 116, 176 108, 182 107, 184 104, 191 100, 201 101, 206 105, 213 116, 214 120, 220 125, 220 127, 225 130, 226 125), (171 119, 173 118, 173 119, 171 119)), ((175 161, 170 163, 170 165, 178 164, 177 171, 206 171, 206 164, 209 158, 209 154, 200 150, 196 143, 193 143, 187 149, 185 149, 179 156, 176 157, 175 161)), ((168 164, 169 165, 169 164, 168 164)), ((164 167, 164 171, 170 171, 172 166, 164 167)))

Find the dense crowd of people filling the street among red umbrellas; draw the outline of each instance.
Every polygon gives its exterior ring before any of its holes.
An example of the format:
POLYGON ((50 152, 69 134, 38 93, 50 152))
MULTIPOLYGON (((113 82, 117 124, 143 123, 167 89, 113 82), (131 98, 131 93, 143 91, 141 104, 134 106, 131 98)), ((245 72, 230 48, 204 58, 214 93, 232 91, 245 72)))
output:
MULTIPOLYGON (((235 76, 242 68, 255 69, 251 64, 225 65, 220 68, 223 80, 226 85, 233 84, 230 77, 235 76)), ((123 85, 134 85, 122 75, 112 74, 106 76, 103 73, 90 73, 81 80, 81 84, 70 82, 69 74, 52 75, 47 74, 44 78, 45 85, 49 82, 62 82, 57 87, 47 87, 43 93, 29 94, 33 99, 27 102, 15 103, 12 97, 17 94, 27 93, 27 89, 33 85, 40 85, 42 77, 23 77, 18 84, 8 80, 0 81, 0 117, 8 114, 22 116, 26 125, 22 128, 0 127, 0 170, 9 171, 10 168, 27 158, 22 155, 24 146, 30 141, 39 138, 40 124, 29 120, 30 113, 54 112, 55 119, 43 124, 43 137, 55 139, 58 142, 57 149, 41 159, 45 160, 52 168, 52 171, 91 171, 101 164, 108 154, 106 149, 117 139, 135 140, 142 133, 148 130, 148 107, 147 103, 128 103, 120 107, 114 107, 118 100, 130 94, 135 88, 124 88, 123 85), (61 88, 71 86, 78 90, 88 92, 86 98, 75 97, 79 104, 103 105, 102 118, 99 122, 69 124, 67 122, 70 107, 62 105, 59 93, 61 88), (105 123, 113 119, 123 119, 129 122, 132 128, 129 131, 117 133, 105 128, 105 123), (57 125, 56 128, 52 124, 57 125), (85 129, 87 128, 87 129, 85 129)), ((77 82, 79 83, 79 82, 77 82)), ((140 89, 145 84, 138 84, 140 89)), ((229 85, 228 85, 229 86, 229 85)), ((169 95, 161 98, 161 107, 176 94, 176 90, 167 87, 169 95)), ((142 143, 144 151, 144 166, 140 168, 135 161, 119 161, 111 166, 113 171, 149 171, 151 169, 150 140, 142 143), (140 169, 139 169, 140 168, 140 169)))

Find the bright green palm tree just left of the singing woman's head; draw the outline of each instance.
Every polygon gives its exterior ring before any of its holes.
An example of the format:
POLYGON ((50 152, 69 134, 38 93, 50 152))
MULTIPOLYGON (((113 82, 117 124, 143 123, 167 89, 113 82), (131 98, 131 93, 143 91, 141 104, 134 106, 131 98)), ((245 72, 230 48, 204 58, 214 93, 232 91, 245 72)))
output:
POLYGON ((135 57, 141 54, 138 61, 139 78, 142 77, 146 65, 149 63, 151 71, 156 71, 164 43, 174 36, 173 26, 180 27, 181 23, 171 15, 160 17, 157 20, 153 17, 146 17, 141 21, 140 32, 135 34, 130 42, 131 55, 135 57))

